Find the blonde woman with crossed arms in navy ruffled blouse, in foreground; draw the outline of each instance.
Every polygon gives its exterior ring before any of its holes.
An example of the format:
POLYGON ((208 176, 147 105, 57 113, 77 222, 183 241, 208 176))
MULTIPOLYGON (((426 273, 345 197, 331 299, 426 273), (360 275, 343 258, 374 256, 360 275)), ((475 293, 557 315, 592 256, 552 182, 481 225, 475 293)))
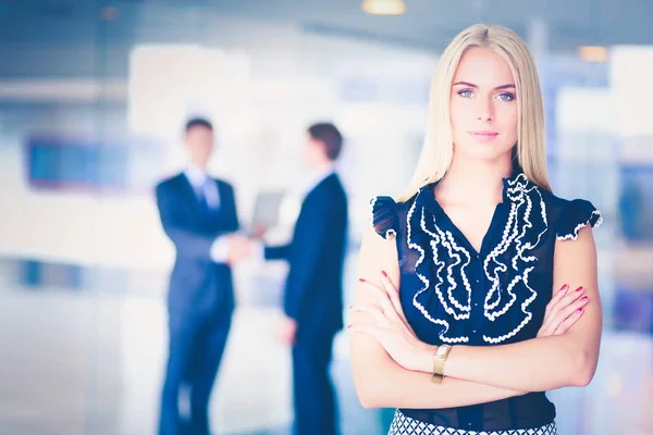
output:
POLYGON ((405 195, 372 201, 349 325, 359 400, 398 408, 391 434, 556 434, 545 391, 589 384, 599 358, 600 213, 551 191, 538 74, 512 30, 452 41, 429 120, 405 195))

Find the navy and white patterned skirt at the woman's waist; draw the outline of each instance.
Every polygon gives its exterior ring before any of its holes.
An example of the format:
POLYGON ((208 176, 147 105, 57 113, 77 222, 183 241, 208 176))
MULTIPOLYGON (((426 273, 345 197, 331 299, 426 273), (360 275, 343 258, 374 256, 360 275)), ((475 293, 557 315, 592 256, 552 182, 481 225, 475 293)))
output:
POLYGON ((395 417, 390 425, 387 435, 557 435, 555 422, 541 427, 517 428, 508 431, 465 431, 463 428, 452 428, 436 426, 421 422, 419 420, 406 417, 397 409, 395 417))

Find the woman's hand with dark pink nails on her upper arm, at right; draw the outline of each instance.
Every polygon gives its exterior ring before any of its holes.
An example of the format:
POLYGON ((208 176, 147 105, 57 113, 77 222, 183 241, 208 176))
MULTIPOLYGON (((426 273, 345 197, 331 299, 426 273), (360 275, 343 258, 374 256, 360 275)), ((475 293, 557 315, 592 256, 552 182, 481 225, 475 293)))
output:
POLYGON ((569 290, 565 284, 553 296, 546 311, 544 312, 544 322, 538 331, 538 337, 549 337, 552 335, 563 335, 566 333, 582 315, 583 307, 589 298, 582 287, 569 290))

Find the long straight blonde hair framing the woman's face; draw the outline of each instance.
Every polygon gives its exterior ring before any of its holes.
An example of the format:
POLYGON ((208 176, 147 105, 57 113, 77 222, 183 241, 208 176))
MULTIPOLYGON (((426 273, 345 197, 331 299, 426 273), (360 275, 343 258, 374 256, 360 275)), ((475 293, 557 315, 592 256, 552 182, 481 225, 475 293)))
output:
POLYGON ((454 38, 433 73, 424 144, 412 179, 399 201, 408 200, 421 187, 443 178, 452 164, 454 142, 449 94, 460 58, 471 47, 488 48, 510 66, 517 90, 516 156, 526 176, 538 186, 551 190, 546 176, 544 108, 533 58, 526 42, 513 30, 476 24, 454 38))

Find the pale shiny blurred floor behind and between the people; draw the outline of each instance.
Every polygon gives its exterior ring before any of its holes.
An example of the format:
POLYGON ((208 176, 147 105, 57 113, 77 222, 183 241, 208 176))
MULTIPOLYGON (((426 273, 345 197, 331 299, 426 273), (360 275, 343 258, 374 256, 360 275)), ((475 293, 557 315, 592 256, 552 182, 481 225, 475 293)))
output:
MULTIPOLYGON (((0 434, 152 434, 165 345, 160 295, 0 289, 0 434)), ((219 374, 217 434, 289 434, 289 353, 278 311, 242 304, 219 374)), ((343 434, 383 434, 392 410, 356 399, 346 334, 333 375, 343 434)), ((564 435, 653 434, 653 339, 606 331, 587 388, 551 397, 564 435)))

